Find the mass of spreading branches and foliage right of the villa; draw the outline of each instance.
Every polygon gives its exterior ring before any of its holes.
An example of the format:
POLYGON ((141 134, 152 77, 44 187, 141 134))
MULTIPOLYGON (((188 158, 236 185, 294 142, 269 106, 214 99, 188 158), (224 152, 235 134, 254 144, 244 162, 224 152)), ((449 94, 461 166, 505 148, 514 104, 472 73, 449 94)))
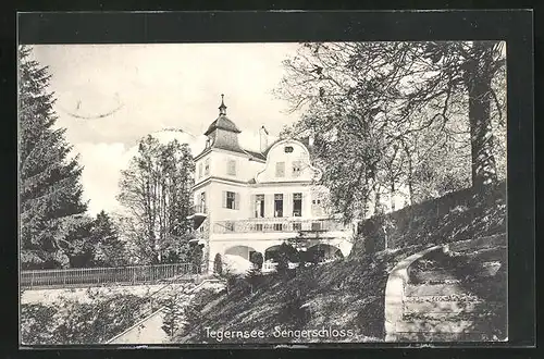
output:
POLYGON ((386 198, 395 210, 395 197, 487 185, 504 169, 504 42, 302 44, 284 65, 277 95, 304 115, 283 135, 314 137, 346 221, 386 198))

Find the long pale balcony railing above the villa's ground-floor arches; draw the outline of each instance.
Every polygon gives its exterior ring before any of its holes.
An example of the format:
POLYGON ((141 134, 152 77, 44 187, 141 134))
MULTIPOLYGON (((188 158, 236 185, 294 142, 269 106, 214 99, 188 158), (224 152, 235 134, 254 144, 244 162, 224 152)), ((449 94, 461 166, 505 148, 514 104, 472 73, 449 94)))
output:
POLYGON ((347 227, 338 220, 247 219, 218 221, 213 233, 330 232, 347 227))

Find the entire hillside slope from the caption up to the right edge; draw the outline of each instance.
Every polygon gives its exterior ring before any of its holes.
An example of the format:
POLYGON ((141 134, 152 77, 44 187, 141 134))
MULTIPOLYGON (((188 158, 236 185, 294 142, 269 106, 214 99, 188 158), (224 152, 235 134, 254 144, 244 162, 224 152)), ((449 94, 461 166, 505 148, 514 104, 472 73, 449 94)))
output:
MULTIPOLYGON (((387 233, 390 249, 371 251, 383 245, 383 233, 367 231, 343 260, 299 269, 290 278, 262 277, 252 293, 247 281, 238 280, 228 294, 197 297, 189 323, 172 342, 383 341, 388 272, 399 260, 434 244, 505 233, 504 188, 493 188, 485 197, 467 189, 387 214, 392 223, 387 233), (322 329, 325 331, 319 332, 322 329), (292 332, 282 333, 284 330, 292 332), (211 331, 262 331, 263 337, 238 337, 245 333, 234 333, 231 338, 211 337, 211 331)), ((362 226, 375 230, 382 220, 370 219, 362 226)))

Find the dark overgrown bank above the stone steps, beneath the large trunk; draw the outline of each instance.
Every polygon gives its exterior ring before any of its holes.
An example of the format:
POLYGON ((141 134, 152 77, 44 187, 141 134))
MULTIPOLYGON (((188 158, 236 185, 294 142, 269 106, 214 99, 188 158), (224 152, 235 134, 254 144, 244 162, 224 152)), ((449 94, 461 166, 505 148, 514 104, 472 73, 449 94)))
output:
POLYGON ((361 221, 350 256, 385 248, 443 244, 506 232, 506 183, 468 188, 361 221))

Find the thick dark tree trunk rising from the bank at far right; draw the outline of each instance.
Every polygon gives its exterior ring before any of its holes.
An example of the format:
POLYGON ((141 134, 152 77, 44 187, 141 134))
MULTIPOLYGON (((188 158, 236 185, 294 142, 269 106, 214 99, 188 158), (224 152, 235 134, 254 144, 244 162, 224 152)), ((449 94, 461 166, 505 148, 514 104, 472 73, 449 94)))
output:
POLYGON ((477 188, 497 181, 490 115, 492 47, 491 42, 474 42, 474 55, 467 62, 465 77, 469 95, 472 186, 477 188))

